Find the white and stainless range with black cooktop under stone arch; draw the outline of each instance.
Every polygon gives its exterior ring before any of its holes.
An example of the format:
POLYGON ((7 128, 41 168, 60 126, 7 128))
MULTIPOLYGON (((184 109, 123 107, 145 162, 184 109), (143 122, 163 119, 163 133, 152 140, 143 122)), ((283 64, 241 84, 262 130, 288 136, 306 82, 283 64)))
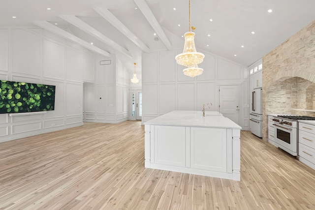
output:
POLYGON ((298 120, 315 120, 309 116, 278 115, 274 117, 275 144, 293 156, 298 156, 298 120))

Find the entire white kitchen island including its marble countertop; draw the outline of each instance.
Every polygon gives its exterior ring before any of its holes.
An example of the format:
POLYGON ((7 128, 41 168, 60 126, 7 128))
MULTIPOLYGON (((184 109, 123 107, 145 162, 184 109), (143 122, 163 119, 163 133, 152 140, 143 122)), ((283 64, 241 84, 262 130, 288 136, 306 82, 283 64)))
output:
POLYGON ((173 111, 144 125, 146 168, 241 180, 242 128, 219 112, 173 111))

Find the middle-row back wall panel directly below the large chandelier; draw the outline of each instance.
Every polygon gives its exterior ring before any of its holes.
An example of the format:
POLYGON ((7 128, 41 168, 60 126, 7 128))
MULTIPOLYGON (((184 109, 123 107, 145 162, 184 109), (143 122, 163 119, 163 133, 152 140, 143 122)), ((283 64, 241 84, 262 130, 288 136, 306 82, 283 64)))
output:
POLYGON ((177 110, 194 110, 194 84, 177 85, 177 110))

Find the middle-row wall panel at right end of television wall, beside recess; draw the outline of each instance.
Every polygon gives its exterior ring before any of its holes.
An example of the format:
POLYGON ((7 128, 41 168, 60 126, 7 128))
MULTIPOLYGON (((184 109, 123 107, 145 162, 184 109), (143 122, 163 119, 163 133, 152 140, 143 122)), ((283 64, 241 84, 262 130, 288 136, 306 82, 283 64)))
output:
POLYGON ((82 84, 67 83, 65 89, 66 115, 82 114, 82 84))

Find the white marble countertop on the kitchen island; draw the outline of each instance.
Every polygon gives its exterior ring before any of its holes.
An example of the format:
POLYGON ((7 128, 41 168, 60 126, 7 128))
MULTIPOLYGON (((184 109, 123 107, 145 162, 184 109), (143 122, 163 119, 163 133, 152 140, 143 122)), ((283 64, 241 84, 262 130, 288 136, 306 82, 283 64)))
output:
POLYGON ((219 112, 206 111, 205 114, 206 116, 202 117, 202 111, 175 110, 146 121, 144 124, 242 129, 241 126, 223 117, 219 112))

